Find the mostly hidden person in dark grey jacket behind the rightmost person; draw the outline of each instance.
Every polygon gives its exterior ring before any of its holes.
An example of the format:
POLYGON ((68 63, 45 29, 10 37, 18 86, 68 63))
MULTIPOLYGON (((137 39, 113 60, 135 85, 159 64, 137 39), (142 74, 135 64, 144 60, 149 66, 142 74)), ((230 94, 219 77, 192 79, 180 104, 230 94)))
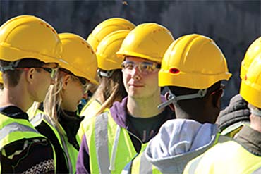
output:
MULTIPOLYGON (((243 79, 248 67, 261 52, 261 37, 255 39, 255 41, 249 46, 245 53, 245 57, 241 63, 241 73, 240 77, 243 79)), ((250 110, 248 108, 248 102, 241 97, 240 94, 236 94, 231 98, 229 106, 224 108, 219 113, 217 118, 217 125, 221 131, 222 135, 229 137, 235 137, 243 125, 250 123, 250 110)))

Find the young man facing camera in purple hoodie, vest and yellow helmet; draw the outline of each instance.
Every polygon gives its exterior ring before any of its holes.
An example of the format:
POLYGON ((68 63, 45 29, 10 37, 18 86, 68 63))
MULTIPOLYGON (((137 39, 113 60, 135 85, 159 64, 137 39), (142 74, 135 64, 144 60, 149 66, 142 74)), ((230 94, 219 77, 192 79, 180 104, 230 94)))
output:
POLYGON ((80 146, 77 173, 121 173, 157 134, 160 125, 175 118, 162 103, 158 72, 164 52, 174 41, 171 32, 157 23, 131 30, 116 53, 128 96, 99 116, 92 117, 80 146))

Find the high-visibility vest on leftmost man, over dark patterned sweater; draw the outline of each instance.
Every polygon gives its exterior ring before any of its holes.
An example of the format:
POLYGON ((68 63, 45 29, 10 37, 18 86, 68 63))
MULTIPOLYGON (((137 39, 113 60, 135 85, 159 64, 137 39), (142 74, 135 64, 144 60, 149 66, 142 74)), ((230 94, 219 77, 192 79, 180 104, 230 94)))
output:
MULTIPOLYGON (((0 113, 0 151, 3 153, 3 149, 7 144, 16 142, 20 139, 47 139, 41 135, 32 124, 25 119, 16 119, 5 116, 0 113)), ((48 141, 48 140, 47 140, 48 141)), ((50 143, 51 144, 51 143, 50 143)), ((54 147, 51 144, 54 154, 54 163, 56 163, 56 156, 54 147)), ((56 168, 55 168, 56 170, 56 168)), ((1 173, 1 163, 0 163, 1 173)))

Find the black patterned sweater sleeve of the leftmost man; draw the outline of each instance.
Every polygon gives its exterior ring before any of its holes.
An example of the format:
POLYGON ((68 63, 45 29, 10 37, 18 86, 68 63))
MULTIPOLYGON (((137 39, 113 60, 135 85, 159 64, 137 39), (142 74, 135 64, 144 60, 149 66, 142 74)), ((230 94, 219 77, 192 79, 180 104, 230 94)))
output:
POLYGON ((54 171, 54 151, 47 139, 23 139, 6 145, 2 151, 4 151, 4 155, 1 157, 3 173, 11 171, 13 173, 13 170, 15 173, 54 171))

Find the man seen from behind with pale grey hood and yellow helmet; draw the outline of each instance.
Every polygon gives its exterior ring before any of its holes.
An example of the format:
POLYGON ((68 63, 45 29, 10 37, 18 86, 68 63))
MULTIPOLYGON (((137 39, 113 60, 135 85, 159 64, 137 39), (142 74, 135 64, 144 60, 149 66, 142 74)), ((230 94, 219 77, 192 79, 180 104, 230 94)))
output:
POLYGON ((226 58, 212 39, 197 34, 176 39, 159 70, 159 86, 169 87, 159 109, 170 106, 176 119, 162 125, 125 173, 182 173, 188 161, 226 139, 214 123, 221 107, 221 80, 230 77, 226 58))

